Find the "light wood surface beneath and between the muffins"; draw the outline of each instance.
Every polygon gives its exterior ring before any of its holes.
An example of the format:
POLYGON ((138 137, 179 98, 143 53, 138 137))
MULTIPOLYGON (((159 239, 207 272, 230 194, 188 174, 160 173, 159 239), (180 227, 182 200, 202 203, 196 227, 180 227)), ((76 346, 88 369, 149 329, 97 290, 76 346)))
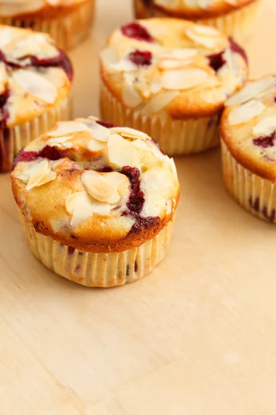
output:
MULTIPOLYGON (((75 116, 98 115, 97 53, 131 18, 99 0, 75 50, 75 116)), ((276 71, 276 1, 248 43, 276 71)), ((236 205, 219 150, 178 158, 182 194, 166 259, 135 284, 88 289, 32 257, 0 177, 1 415, 275 415, 276 227, 236 205)))

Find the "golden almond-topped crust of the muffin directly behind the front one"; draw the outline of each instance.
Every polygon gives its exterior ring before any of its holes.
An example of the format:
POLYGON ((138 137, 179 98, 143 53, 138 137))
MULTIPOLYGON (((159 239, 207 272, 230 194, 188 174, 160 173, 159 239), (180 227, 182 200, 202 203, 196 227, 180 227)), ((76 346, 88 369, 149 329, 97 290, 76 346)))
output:
POLYGON ((215 28, 168 18, 130 25, 110 35, 100 65, 103 83, 125 107, 146 113, 167 111, 173 119, 213 116, 246 80, 244 51, 215 28), (133 25, 146 30, 149 40, 126 36, 133 25), (130 60, 135 50, 150 53, 150 64, 135 67, 130 60))

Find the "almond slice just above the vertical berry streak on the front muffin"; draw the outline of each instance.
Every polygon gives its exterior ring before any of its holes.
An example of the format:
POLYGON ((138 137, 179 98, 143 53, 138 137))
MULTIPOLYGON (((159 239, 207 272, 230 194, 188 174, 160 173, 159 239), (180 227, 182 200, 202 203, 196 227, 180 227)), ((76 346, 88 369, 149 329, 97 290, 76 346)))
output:
POLYGON ((135 160, 135 147, 128 140, 124 140, 118 134, 112 134, 108 140, 107 156, 113 167, 133 167, 135 160))

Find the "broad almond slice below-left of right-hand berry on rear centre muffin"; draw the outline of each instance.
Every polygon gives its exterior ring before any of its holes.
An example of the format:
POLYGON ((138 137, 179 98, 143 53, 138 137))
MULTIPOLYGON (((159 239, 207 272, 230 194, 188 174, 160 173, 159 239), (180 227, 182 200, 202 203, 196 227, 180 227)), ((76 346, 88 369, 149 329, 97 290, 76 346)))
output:
POLYGON ((190 89, 202 84, 208 78, 208 73, 198 68, 165 71, 163 75, 165 89, 190 89))

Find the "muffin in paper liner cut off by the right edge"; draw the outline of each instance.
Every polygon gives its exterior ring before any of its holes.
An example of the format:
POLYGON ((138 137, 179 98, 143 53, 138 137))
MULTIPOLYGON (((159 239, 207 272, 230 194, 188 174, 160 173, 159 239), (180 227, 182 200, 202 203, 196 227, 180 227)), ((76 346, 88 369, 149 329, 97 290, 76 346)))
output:
POLYGON ((237 202, 275 223, 276 75, 248 81, 221 118, 224 181, 237 202))

